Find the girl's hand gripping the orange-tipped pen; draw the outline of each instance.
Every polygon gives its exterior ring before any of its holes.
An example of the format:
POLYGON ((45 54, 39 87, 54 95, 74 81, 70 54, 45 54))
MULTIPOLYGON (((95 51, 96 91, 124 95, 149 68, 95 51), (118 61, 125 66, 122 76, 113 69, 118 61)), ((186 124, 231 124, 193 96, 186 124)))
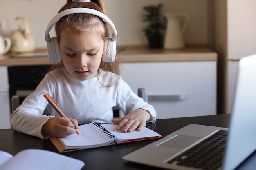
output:
POLYGON ((42 134, 53 135, 54 137, 67 137, 76 132, 77 121, 71 118, 50 117, 42 127, 42 134))

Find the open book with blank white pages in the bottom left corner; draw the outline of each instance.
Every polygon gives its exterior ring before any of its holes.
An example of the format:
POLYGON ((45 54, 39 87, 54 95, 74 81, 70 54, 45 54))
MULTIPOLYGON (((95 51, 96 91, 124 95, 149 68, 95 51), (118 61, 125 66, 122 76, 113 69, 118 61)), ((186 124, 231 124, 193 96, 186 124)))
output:
POLYGON ((0 150, 0 170, 81 170, 84 165, 83 161, 47 150, 27 149, 15 156, 0 150))

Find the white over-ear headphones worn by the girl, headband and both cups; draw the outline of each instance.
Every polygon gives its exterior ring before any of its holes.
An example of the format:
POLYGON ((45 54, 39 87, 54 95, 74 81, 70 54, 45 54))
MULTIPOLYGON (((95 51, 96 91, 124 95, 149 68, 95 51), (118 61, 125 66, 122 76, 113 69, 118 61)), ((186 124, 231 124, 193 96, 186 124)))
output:
POLYGON ((64 11, 61 11, 58 13, 47 25, 46 31, 45 31, 45 41, 47 42, 47 53, 49 57, 50 62, 60 62, 62 60, 61 58, 61 52, 60 47, 58 44, 57 37, 50 37, 50 31, 54 24, 60 20, 63 16, 73 14, 73 13, 89 13, 92 15, 96 15, 103 19, 104 22, 106 22, 110 29, 112 30, 112 37, 106 37, 105 44, 104 44, 104 51, 102 56, 102 61, 104 62, 113 62, 115 61, 115 55, 117 50, 117 30, 115 29, 115 25, 113 22, 103 13, 100 11, 90 9, 90 8, 71 8, 66 9, 64 11))

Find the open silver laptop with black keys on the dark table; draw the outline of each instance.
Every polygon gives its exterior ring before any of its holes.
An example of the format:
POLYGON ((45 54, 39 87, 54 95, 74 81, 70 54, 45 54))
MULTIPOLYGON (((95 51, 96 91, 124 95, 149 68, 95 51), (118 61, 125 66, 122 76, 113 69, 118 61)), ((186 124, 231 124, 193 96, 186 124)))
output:
POLYGON ((202 166, 233 170, 256 150, 255 131, 256 55, 250 55, 239 61, 229 129, 191 124, 123 159, 173 170, 196 170, 202 166), (221 152, 223 156, 213 157, 221 152), (215 164, 207 164, 212 160, 215 164))

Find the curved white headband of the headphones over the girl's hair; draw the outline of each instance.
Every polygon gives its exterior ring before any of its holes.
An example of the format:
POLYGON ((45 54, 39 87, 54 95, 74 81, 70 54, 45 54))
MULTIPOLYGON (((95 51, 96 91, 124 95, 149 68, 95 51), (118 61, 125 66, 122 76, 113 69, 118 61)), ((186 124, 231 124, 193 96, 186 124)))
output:
POLYGON ((45 31, 45 41, 46 42, 49 42, 51 40, 49 33, 50 33, 52 27, 54 26, 54 24, 56 24, 56 22, 58 22, 60 20, 60 18, 66 16, 66 15, 73 14, 73 13, 89 13, 89 14, 96 15, 96 16, 102 18, 103 21, 106 22, 113 31, 111 40, 117 41, 117 30, 115 29, 115 25, 106 15, 104 15, 100 11, 97 11, 95 9, 90 9, 90 8, 70 8, 70 9, 61 11, 54 18, 52 18, 52 20, 49 22, 49 24, 47 25, 46 31, 45 31))

